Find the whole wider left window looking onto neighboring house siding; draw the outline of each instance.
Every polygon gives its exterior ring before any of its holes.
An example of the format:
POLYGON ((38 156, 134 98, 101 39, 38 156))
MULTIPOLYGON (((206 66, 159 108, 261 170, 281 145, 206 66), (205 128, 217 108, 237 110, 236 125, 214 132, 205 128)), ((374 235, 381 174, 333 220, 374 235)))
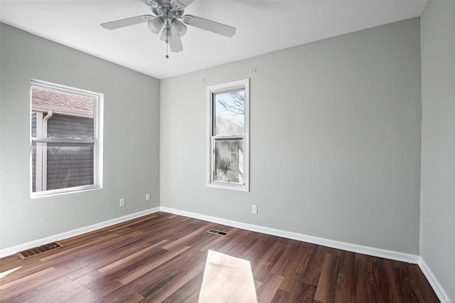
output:
POLYGON ((102 94, 31 81, 31 195, 101 187, 102 94))

